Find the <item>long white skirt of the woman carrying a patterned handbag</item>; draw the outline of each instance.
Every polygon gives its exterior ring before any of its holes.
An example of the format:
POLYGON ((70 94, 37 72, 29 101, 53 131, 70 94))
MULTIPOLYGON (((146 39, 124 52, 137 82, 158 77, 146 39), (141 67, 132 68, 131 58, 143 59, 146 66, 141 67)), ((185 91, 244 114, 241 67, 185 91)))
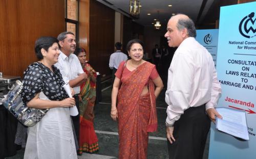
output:
POLYGON ((69 108, 52 108, 41 121, 28 128, 24 158, 77 159, 69 108))

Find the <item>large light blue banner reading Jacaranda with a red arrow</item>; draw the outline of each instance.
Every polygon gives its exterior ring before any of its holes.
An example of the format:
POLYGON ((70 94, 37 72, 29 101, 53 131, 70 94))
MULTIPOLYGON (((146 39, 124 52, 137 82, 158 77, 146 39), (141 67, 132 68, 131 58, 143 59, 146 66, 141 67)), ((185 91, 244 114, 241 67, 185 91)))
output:
POLYGON ((218 107, 244 110, 249 141, 211 125, 209 158, 256 158, 256 2, 221 7, 217 73, 218 107))

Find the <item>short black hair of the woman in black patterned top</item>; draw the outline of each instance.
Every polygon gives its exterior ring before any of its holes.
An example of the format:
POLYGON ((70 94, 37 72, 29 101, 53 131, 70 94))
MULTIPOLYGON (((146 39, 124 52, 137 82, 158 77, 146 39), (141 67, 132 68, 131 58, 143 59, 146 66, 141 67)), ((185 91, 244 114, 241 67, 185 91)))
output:
POLYGON ((42 56, 41 49, 44 48, 48 51, 49 47, 51 47, 54 43, 58 43, 58 40, 54 37, 40 37, 35 41, 35 54, 38 60, 44 59, 42 56))

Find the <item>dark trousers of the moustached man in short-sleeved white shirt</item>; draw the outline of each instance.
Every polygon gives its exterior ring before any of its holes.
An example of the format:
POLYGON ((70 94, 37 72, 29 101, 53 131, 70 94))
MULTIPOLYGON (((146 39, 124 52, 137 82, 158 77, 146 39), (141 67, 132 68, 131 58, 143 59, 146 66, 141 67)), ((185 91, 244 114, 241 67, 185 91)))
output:
MULTIPOLYGON (((80 131, 80 109, 79 109, 79 97, 78 94, 74 95, 75 101, 76 101, 76 108, 78 110, 77 116, 72 116, 75 132, 76 132, 76 138, 77 142, 79 143, 79 131, 80 131)), ((75 139, 76 140, 76 139, 75 139)), ((81 146, 81 145, 79 145, 81 146)))

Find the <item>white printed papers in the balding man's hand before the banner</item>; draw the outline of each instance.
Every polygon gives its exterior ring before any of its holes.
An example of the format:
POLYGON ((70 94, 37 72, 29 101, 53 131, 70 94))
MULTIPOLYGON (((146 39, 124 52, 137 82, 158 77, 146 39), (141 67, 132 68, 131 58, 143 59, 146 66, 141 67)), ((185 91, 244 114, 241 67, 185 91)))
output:
POLYGON ((246 114, 242 110, 217 108, 223 119, 216 119, 216 128, 234 137, 249 140, 246 114))

